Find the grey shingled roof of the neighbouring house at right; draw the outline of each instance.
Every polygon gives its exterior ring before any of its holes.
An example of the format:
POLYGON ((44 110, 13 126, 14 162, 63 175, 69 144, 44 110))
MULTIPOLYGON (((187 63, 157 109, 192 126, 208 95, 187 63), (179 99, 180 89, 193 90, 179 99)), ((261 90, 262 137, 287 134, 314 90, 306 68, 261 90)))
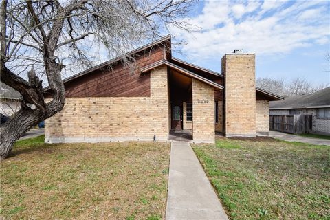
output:
POLYGON ((314 107, 330 107, 330 87, 316 91, 314 94, 270 102, 270 109, 308 109, 314 107))

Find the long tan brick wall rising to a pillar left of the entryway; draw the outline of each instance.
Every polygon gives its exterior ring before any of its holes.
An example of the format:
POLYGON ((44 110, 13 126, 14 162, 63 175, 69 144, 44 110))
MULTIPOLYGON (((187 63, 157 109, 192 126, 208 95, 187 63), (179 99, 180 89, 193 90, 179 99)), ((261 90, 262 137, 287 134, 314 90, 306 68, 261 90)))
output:
POLYGON ((45 142, 168 140, 167 68, 151 72, 150 97, 66 98, 45 122, 45 142))

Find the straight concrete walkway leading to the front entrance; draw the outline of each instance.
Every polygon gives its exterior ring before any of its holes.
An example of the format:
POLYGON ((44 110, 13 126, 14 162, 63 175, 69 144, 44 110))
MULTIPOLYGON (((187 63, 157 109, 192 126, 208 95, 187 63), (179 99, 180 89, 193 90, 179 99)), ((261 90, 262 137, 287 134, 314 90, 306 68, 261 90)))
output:
POLYGON ((166 219, 228 219, 188 142, 172 142, 166 219))

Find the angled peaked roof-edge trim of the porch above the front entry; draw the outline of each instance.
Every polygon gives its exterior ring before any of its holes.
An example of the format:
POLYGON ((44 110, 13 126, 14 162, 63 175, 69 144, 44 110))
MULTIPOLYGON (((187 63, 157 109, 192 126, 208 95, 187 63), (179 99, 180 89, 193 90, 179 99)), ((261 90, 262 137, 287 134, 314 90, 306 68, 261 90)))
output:
POLYGON ((182 67, 179 67, 178 65, 175 65, 173 63, 170 63, 168 61, 162 60, 162 61, 158 61, 156 63, 153 63, 152 65, 148 65, 146 67, 144 67, 143 69, 141 69, 141 72, 149 72, 151 71, 151 69, 155 69, 156 67, 159 67, 161 65, 166 65, 168 67, 170 67, 171 69, 175 69, 177 72, 184 74, 186 76, 189 76, 190 78, 195 78, 203 83, 206 83, 207 85, 210 85, 211 87, 214 87, 215 90, 222 90, 223 86, 219 85, 217 83, 214 83, 212 80, 208 80, 207 78, 204 78, 202 76, 199 76, 198 74, 195 74, 193 72, 190 72, 187 69, 184 69, 182 67))

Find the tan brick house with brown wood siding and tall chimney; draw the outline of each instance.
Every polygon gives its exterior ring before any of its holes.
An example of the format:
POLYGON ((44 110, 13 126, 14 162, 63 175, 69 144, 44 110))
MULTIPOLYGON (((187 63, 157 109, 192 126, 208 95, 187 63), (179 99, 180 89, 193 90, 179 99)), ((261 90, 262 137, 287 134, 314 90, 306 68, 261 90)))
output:
POLYGON ((214 143, 215 132, 268 134, 268 103, 282 98, 256 88, 255 54, 226 54, 220 74, 174 58, 170 42, 130 52, 133 73, 115 58, 66 78, 65 107, 46 120, 45 142, 167 141, 171 131, 188 131, 193 142, 214 143))

